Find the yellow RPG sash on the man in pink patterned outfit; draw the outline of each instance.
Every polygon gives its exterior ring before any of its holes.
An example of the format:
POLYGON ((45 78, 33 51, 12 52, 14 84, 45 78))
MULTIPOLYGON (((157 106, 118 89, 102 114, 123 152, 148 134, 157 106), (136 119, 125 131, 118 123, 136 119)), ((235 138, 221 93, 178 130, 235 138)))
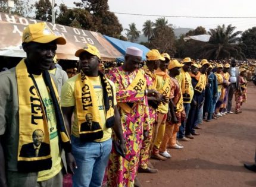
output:
MULTIPOLYGON (((132 83, 126 88, 126 90, 136 90, 143 91, 146 89, 146 79, 142 74, 141 70, 139 70, 135 76, 135 79, 132 83)), ((121 107, 126 113, 132 113, 132 108, 126 103, 117 103, 118 106, 121 107)))

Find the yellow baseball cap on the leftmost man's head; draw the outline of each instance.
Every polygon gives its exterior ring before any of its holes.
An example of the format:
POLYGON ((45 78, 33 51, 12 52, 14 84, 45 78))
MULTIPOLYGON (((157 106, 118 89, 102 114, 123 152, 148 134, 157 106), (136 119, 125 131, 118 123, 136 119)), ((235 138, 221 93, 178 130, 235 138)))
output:
POLYGON ((49 43, 54 40, 56 40, 59 45, 64 45, 66 43, 66 40, 60 35, 60 33, 54 33, 44 22, 29 24, 22 34, 23 43, 49 43))

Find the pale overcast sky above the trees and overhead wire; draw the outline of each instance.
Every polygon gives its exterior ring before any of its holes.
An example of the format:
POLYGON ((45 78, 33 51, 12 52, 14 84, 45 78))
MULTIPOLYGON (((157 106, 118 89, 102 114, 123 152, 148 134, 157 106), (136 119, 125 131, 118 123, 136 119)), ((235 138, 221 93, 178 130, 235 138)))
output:
MULTIPOLYGON (((55 0, 59 5, 65 3, 73 7, 73 2, 79 0, 55 0)), ((200 17, 256 17, 255 0, 108 0, 110 11, 130 14, 178 15, 200 17)), ((154 21, 158 17, 115 14, 123 28, 129 28, 135 23, 142 30, 146 20, 154 21)), ((173 18, 168 17, 168 23, 175 27, 196 28, 203 26, 207 30, 218 24, 232 24, 237 30, 244 31, 256 26, 256 18, 173 18)))

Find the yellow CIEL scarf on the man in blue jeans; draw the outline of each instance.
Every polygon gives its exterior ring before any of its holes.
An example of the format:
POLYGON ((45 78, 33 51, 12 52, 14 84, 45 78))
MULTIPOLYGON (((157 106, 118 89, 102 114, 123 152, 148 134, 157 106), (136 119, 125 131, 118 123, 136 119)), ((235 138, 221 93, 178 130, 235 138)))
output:
MULTIPOLYGON (((107 78, 99 72, 101 78, 104 109, 106 115, 106 126, 114 126, 114 93, 107 78)), ((79 135, 82 141, 93 141, 103 137, 99 115, 97 96, 88 77, 81 72, 76 80, 76 112, 79 125, 79 135), (90 121, 90 122, 89 122, 90 121)))

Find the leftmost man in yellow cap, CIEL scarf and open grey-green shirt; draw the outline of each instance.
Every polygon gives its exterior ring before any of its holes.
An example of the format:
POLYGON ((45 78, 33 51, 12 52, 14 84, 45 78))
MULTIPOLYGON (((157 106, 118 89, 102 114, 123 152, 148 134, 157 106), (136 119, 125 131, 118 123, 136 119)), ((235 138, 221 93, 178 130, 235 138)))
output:
POLYGON ((0 186, 63 186, 61 147, 68 164, 73 156, 48 69, 66 41, 36 23, 24 29, 22 42, 26 58, 0 74, 0 186))

